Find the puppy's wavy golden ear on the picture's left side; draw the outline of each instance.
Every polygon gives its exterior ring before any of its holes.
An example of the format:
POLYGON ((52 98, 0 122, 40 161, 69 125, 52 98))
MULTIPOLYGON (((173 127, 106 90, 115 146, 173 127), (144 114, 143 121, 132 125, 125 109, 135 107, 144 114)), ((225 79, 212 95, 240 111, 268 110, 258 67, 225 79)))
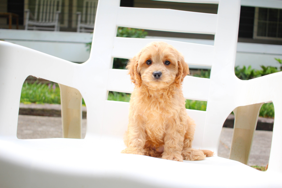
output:
POLYGON ((130 59, 126 65, 126 69, 128 70, 128 73, 130 75, 131 81, 137 86, 140 87, 141 86, 141 75, 140 73, 138 73, 137 71, 137 67, 138 67, 138 61, 140 58, 141 52, 139 52, 138 54, 136 54, 136 56, 134 56, 132 59, 130 59))

